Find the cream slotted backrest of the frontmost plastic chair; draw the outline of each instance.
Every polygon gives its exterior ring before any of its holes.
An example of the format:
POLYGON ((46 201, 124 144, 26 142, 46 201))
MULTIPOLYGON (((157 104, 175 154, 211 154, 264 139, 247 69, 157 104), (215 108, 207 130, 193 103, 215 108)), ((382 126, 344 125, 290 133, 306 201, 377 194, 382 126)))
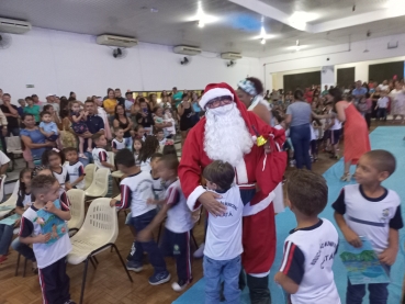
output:
POLYGON ((79 232, 71 237, 71 241, 89 236, 97 236, 98 239, 103 238, 105 244, 115 241, 119 236, 119 221, 115 207, 110 206, 110 201, 111 199, 101 198, 91 202, 85 223, 79 232))

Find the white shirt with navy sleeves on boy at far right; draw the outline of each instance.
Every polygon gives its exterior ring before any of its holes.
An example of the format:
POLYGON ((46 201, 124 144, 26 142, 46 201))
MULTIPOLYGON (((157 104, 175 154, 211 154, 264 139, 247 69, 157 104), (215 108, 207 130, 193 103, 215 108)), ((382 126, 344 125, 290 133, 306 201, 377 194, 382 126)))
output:
POLYGON ((393 190, 385 189, 381 198, 372 199, 360 184, 348 184, 331 206, 345 215, 350 229, 370 240, 376 254, 389 247, 390 228, 398 230, 404 226, 401 199, 393 190))

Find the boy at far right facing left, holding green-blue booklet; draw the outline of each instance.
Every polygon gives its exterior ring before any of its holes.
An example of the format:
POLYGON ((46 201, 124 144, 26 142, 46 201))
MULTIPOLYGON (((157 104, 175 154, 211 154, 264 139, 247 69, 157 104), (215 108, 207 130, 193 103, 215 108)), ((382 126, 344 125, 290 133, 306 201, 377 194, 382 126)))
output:
MULTIPOLYGON (((395 262, 398 229, 404 226, 398 194, 381 185, 395 167, 395 157, 386 150, 364 154, 356 169, 358 183, 345 185, 333 204, 336 223, 346 240, 361 247, 359 236, 367 237, 387 269, 395 262)), ((387 303, 387 283, 369 284, 370 303, 387 303)), ((348 281, 347 303, 361 303, 364 295, 365 284, 352 285, 348 281)))

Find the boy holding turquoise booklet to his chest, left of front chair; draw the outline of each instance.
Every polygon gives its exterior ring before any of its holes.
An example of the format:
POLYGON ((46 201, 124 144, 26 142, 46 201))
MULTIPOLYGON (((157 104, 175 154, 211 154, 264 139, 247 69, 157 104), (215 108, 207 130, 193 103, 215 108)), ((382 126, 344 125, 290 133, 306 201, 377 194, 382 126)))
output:
POLYGON ((21 218, 20 241, 33 244, 40 269, 44 303, 74 304, 66 273, 66 256, 71 250, 67 225, 69 206, 59 198, 59 183, 53 176, 37 176, 32 180, 35 202, 21 218))

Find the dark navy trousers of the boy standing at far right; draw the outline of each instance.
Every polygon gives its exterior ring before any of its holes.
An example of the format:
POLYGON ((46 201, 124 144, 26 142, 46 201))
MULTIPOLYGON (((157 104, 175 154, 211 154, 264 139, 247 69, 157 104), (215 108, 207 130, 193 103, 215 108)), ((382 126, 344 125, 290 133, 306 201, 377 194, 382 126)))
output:
MULTIPOLYGON (((386 266, 389 271, 390 268, 386 266)), ((347 280, 346 304, 361 304, 365 295, 365 284, 352 285, 347 280)), ((386 304, 389 302, 389 283, 368 284, 370 304, 386 304)))

